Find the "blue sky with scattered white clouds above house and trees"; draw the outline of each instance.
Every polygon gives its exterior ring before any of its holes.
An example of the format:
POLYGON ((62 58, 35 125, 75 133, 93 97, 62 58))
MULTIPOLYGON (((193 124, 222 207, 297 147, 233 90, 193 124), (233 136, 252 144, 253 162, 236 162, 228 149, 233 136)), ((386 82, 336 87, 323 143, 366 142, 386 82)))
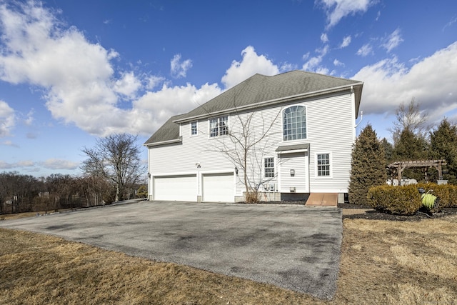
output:
MULTIPOLYGON (((81 149, 253 74, 364 82, 358 130, 414 98, 457 122, 457 2, 0 0, 0 172, 80 174, 81 149)), ((146 160, 146 149, 143 158, 146 160)))

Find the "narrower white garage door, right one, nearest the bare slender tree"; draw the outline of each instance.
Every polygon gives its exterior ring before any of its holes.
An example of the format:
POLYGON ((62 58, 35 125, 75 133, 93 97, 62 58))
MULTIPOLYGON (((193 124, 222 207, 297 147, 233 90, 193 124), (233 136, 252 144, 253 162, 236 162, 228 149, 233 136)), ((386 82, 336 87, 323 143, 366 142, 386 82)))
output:
POLYGON ((233 202, 235 197, 235 181, 233 173, 204 174, 203 201, 233 202))

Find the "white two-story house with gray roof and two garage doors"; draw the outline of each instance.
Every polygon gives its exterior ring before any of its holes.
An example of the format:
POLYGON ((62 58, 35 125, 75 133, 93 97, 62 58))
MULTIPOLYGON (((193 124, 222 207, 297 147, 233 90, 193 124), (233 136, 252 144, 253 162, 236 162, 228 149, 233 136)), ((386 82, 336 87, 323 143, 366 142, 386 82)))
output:
POLYGON ((144 144, 149 200, 237 202, 248 184, 262 200, 341 201, 362 88, 305 71, 256 74, 171 117, 144 144))

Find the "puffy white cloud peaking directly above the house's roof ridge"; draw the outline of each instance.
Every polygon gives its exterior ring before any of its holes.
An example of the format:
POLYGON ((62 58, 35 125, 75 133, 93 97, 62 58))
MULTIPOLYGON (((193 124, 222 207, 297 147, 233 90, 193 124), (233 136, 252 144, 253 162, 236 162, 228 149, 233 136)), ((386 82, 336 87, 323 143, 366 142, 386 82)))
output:
POLYGON ((253 74, 259 73, 263 75, 275 75, 279 73, 278 66, 273 64, 270 59, 264 55, 257 55, 253 46, 247 46, 246 49, 241 51, 243 59, 240 61, 232 61, 226 74, 222 76, 222 84, 229 89, 241 81, 244 81, 253 74))

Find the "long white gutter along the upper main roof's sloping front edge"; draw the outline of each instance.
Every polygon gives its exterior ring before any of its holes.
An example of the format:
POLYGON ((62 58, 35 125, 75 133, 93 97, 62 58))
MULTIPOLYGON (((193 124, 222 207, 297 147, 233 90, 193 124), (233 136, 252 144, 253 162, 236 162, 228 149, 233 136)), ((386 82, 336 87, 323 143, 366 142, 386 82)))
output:
POLYGON ((231 113, 233 111, 250 110, 250 109, 255 109, 255 108, 258 108, 258 107, 261 107, 261 106, 271 106, 271 105, 274 105, 274 104, 284 103, 284 102, 288 102, 288 101, 294 101, 296 99, 310 98, 310 97, 318 96, 318 95, 322 95, 322 94, 331 94, 331 93, 334 93, 334 92, 339 92, 339 91, 344 91, 344 90, 351 89, 354 86, 363 86, 363 82, 358 82, 356 84, 347 84, 347 85, 344 85, 344 86, 338 86, 338 87, 332 88, 330 90, 329 89, 322 89, 322 90, 318 90, 318 91, 308 92, 308 93, 305 93, 305 94, 296 94, 296 95, 293 95, 293 96, 288 96, 286 98, 281 97, 281 98, 278 98, 278 99, 271 99, 271 100, 268 100, 268 101, 261 101, 261 102, 255 103, 255 104, 249 104, 249 105, 241 106, 241 107, 233 107, 233 108, 229 108, 229 109, 224 109, 224 110, 220 110, 220 111, 211 112, 209 114, 200 114, 198 116, 191 116, 189 118, 177 119, 177 120, 174 120, 173 122, 179 124, 179 123, 184 123, 184 122, 189 122, 189 121, 196 121, 198 119, 204 119, 206 117, 216 116, 216 115, 219 115, 219 114, 229 114, 229 113, 231 113))

